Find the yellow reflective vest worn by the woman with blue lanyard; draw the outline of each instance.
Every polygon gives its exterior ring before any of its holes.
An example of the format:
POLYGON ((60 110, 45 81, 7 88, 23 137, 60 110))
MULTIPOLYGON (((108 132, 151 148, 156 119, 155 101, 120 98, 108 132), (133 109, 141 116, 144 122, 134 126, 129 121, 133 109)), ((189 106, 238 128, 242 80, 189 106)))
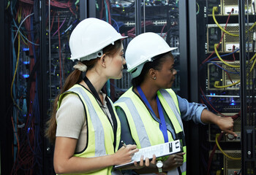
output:
MULTIPOLYGON (((175 133, 172 133, 170 127, 167 127, 168 140, 181 139, 183 151, 187 152, 185 144, 181 112, 178 107, 178 98, 172 89, 161 89, 157 92, 160 103, 170 119, 175 133), (168 129, 169 128, 169 129, 168 129), (173 134, 175 136, 173 136, 173 134)), ((162 131, 159 129, 157 117, 152 116, 142 100, 129 88, 118 101, 114 104, 121 107, 126 114, 132 139, 136 142, 138 148, 149 147, 156 144, 165 143, 162 131)), ((166 158, 163 158, 165 160, 166 158)), ((184 155, 183 166, 180 166, 167 174, 185 175, 186 174, 186 154, 184 155)))

